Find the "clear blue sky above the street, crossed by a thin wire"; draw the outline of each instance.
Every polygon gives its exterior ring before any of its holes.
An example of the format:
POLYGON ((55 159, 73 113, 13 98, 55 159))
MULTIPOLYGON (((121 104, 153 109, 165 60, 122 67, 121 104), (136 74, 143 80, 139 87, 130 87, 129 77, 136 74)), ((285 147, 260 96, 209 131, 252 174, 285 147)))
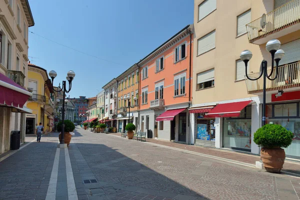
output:
POLYGON ((193 22, 193 0, 29 0, 29 4, 35 22, 29 31, 102 58, 29 32, 29 59, 57 72, 54 85, 65 80, 68 70, 76 73, 70 97, 95 96, 109 80, 193 22))

